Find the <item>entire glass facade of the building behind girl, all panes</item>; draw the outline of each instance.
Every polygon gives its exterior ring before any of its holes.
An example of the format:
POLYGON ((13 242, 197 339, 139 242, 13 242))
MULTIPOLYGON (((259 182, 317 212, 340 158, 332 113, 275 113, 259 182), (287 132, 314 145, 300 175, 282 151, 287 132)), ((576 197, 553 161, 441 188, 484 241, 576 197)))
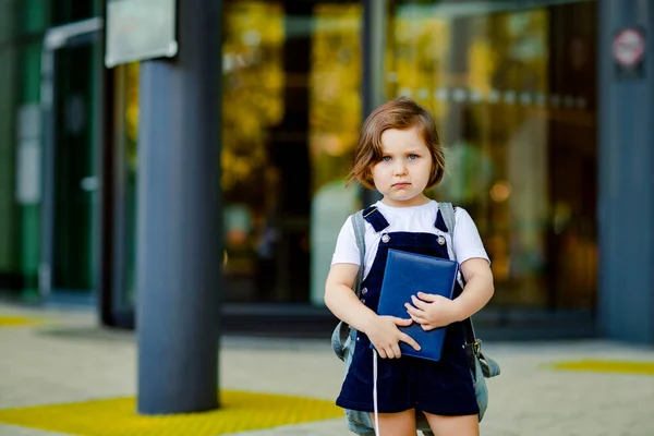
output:
MULTIPOLYGON (((596 2, 387 3, 385 97, 411 96, 436 116, 448 171, 429 195, 475 219, 492 306, 593 310, 596 2)), ((29 298, 47 280, 55 294, 90 295, 109 268, 112 310, 133 312, 140 65, 104 71, 104 101, 99 33, 71 41, 55 51, 49 118, 40 110, 46 32, 98 16, 99 4, 0 2, 0 289, 29 298), (111 185, 104 223, 100 167, 111 185), (107 232, 111 262, 100 264, 107 232)), ((362 206, 344 179, 370 86, 363 4, 222 7, 225 301, 322 307, 336 237, 362 206)))

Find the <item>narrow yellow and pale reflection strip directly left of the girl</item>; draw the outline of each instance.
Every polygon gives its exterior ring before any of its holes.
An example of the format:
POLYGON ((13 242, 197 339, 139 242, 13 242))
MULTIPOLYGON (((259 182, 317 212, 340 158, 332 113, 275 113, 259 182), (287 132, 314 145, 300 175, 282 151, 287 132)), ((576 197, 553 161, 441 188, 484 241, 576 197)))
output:
POLYGON ((356 208, 344 181, 361 125, 361 4, 314 8, 311 66, 311 267, 308 299, 324 305, 338 232, 356 208))

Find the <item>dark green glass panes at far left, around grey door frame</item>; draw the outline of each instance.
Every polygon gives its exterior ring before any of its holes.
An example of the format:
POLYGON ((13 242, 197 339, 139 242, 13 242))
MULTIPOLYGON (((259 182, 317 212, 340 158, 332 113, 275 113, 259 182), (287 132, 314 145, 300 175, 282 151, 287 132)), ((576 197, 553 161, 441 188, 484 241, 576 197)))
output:
POLYGON ((4 295, 38 298, 45 282, 48 290, 84 294, 94 288, 97 33, 95 38, 52 48, 52 74, 46 78, 41 72, 47 32, 97 16, 99 4, 0 3, 0 292, 4 295), (48 111, 44 88, 53 92, 48 111), (57 153, 49 154, 53 149, 57 153))

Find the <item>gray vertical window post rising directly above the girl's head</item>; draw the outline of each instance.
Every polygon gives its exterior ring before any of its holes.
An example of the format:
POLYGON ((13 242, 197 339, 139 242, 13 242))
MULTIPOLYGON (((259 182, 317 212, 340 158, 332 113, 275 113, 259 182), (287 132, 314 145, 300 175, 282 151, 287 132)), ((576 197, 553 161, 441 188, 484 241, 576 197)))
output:
MULTIPOLYGON (((363 120, 386 101, 386 19, 387 0, 363 0, 361 113, 363 120)), ((377 191, 363 189, 364 207, 380 199, 377 191)))

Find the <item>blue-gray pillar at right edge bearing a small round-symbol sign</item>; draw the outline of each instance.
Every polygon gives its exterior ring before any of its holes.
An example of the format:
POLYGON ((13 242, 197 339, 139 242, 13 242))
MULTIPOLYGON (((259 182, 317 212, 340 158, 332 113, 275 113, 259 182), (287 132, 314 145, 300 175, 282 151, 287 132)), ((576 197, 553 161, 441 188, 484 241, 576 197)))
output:
MULTIPOLYGON (((654 343, 654 3, 600 1, 600 295, 607 338, 654 343), (640 70, 616 66, 615 34, 640 27, 640 70)), ((560 156, 565 159, 565 156, 560 156)))

